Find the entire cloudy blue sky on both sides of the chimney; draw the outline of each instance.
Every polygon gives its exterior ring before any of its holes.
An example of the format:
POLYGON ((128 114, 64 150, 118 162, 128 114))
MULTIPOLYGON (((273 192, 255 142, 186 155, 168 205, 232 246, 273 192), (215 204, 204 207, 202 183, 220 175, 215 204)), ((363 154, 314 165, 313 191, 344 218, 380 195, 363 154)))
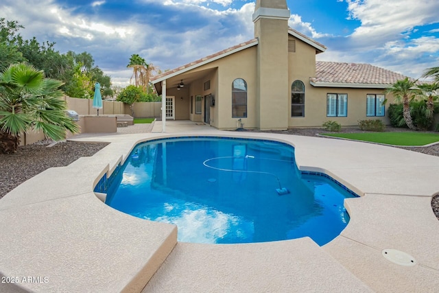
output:
MULTIPOLYGON (((439 66, 438 0, 287 0, 289 26, 328 47, 318 60, 370 63, 412 78, 439 66)), ((93 55, 125 86, 131 54, 162 70, 253 38, 250 0, 2 0, 23 37, 93 55)))

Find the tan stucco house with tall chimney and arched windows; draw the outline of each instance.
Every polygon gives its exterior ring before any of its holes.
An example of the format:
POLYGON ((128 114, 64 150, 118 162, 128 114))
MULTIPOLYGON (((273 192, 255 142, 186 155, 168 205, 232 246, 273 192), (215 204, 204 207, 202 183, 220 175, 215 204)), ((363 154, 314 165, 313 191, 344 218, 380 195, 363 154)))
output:
MULTIPOLYGON (((254 38, 154 76, 167 119, 219 129, 285 130, 383 119, 384 89, 404 75, 368 64, 316 61, 324 45, 288 27, 285 0, 257 0, 254 38)), ((387 97, 390 102, 393 97, 387 97)))

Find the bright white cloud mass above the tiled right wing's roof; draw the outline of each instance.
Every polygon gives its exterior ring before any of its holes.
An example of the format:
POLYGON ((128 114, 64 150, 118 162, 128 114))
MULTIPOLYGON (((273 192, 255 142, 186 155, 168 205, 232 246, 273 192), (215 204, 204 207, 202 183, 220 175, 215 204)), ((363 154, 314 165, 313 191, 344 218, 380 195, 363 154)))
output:
POLYGON ((361 22, 353 34, 324 36, 327 45, 318 60, 370 63, 418 78, 423 70, 437 64, 439 39, 416 37, 423 25, 436 23, 436 0, 346 0, 351 19, 361 22))

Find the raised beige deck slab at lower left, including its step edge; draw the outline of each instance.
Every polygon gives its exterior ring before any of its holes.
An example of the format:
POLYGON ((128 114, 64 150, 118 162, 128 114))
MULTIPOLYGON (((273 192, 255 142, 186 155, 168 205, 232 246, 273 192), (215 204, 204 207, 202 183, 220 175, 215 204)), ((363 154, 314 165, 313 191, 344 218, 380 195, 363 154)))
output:
POLYGON ((18 281, 0 292, 140 292, 177 243, 176 226, 126 215, 93 193, 2 202, 0 276, 18 281))

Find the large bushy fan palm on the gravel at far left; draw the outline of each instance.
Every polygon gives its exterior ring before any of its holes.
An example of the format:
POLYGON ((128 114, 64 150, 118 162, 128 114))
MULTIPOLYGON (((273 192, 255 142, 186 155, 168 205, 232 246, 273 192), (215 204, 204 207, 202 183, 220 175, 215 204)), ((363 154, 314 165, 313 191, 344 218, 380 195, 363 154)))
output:
POLYGON ((62 82, 45 78, 32 65, 10 65, 0 73, 0 151, 16 152, 20 134, 27 130, 43 131, 54 140, 65 138, 66 131, 78 132, 64 110, 59 87, 62 82))

